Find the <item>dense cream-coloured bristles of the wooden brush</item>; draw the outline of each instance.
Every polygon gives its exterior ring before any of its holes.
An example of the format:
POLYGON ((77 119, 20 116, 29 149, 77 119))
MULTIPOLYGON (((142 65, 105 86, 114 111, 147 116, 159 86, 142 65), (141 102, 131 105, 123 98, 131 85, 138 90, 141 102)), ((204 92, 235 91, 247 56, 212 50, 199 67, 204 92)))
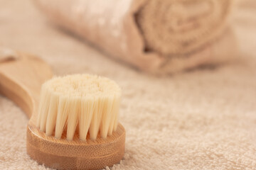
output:
POLYGON ((60 138, 67 128, 67 140, 75 130, 80 140, 106 138, 117 130, 121 89, 112 80, 89 74, 55 77, 41 87, 37 127, 60 138))

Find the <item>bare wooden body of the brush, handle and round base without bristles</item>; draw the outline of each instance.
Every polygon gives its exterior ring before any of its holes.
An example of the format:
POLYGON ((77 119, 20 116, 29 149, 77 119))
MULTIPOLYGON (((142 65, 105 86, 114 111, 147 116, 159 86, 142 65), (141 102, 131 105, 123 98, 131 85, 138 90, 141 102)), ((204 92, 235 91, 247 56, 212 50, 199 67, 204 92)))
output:
POLYGON ((113 135, 103 140, 80 141, 78 132, 72 141, 47 136, 36 128, 41 84, 53 74, 45 62, 19 53, 17 60, 0 63, 0 93, 20 106, 30 118, 27 128, 27 152, 39 164, 55 169, 102 169, 117 164, 124 155, 125 130, 119 124, 113 135))

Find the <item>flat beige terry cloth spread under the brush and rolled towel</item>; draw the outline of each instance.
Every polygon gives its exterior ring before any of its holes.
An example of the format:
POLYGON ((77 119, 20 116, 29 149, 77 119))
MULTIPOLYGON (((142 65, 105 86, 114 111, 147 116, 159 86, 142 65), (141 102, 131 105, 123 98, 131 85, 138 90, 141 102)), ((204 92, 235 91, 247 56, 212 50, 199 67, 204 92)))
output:
MULTIPOLYGON (((112 169, 256 169, 255 0, 235 13, 238 60, 166 77, 110 60, 55 29, 31 1, 0 3, 1 46, 38 54, 54 74, 99 74, 122 87, 126 150, 112 169)), ((26 154, 27 123, 0 96, 0 169, 46 169, 26 154)))

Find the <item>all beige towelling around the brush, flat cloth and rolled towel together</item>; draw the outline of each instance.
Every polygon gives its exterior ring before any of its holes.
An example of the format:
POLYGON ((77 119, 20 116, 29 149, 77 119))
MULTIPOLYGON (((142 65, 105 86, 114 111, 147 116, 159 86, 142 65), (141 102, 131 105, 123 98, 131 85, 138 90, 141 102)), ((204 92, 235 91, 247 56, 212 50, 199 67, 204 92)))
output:
MULTIPOLYGON (((255 0, 0 0, 0 47, 117 81, 127 142, 112 169, 255 169, 255 0)), ((46 169, 4 96, 0 116, 0 169, 46 169)))

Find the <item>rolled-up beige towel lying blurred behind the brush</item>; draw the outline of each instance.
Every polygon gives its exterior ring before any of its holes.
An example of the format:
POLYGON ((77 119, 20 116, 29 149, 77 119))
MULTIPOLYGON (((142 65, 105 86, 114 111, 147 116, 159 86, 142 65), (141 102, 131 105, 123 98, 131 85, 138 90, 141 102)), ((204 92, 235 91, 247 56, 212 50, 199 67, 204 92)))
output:
POLYGON ((233 0, 35 0, 59 26, 111 56, 172 73, 233 56, 233 0))

